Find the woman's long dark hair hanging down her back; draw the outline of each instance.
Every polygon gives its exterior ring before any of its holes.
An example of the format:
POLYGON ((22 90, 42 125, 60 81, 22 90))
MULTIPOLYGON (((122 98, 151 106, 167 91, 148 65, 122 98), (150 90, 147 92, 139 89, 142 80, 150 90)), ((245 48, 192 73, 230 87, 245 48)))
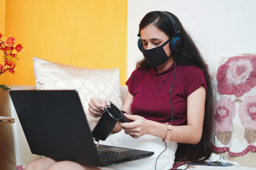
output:
MULTIPOLYGON (((167 12, 167 11, 166 11, 167 12)), ((176 152, 176 160, 198 160, 208 159, 212 153, 212 143, 214 143, 213 131, 214 123, 212 117, 213 111, 213 94, 211 85, 211 76, 208 73, 208 67, 205 64, 198 48, 193 42, 189 34, 184 30, 184 27, 180 23, 179 19, 170 12, 169 13, 175 20, 177 27, 180 29, 180 37, 184 39, 184 46, 179 53, 173 53, 174 59, 182 65, 196 66, 204 71, 205 79, 207 81, 207 94, 205 100, 205 115, 204 115, 204 126, 202 132, 202 138, 196 145, 182 144, 179 145, 176 152)), ((169 38, 174 35, 172 24, 169 19, 161 11, 152 11, 147 13, 140 22, 140 31, 147 25, 153 24, 158 29, 163 31, 169 38)), ((140 34, 140 32, 139 32, 140 34)), ((150 65, 147 60, 143 59, 137 63, 138 69, 148 69, 150 65)))

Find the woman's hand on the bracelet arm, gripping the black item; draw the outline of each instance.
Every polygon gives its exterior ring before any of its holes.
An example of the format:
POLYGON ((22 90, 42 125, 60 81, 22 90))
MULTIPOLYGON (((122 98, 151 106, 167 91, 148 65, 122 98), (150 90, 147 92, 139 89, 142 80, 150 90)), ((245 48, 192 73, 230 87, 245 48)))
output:
POLYGON ((148 134, 149 121, 138 115, 128 115, 124 114, 132 122, 118 124, 124 129, 125 134, 129 134, 132 138, 140 138, 144 134, 148 134))

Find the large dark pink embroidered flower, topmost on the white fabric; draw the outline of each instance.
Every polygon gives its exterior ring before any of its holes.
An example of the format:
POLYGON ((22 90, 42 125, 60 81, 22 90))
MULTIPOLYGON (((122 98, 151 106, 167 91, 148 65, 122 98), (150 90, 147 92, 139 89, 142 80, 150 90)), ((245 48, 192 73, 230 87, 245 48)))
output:
POLYGON ((256 55, 230 57, 216 76, 221 95, 241 97, 256 86, 256 55))

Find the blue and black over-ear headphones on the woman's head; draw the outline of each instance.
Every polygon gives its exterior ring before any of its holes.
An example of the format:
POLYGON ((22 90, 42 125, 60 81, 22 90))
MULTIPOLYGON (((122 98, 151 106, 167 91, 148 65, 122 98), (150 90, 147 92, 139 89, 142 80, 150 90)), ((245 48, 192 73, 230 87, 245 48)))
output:
MULTIPOLYGON (((165 11, 159 11, 159 12, 168 18, 168 20, 170 21, 170 24, 173 27, 174 36, 172 37, 170 44, 169 44, 170 49, 172 50, 172 52, 180 52, 180 50, 182 49, 182 46, 184 44, 184 39, 179 36, 181 31, 180 31, 179 27, 177 26, 177 23, 175 22, 172 15, 170 15, 169 13, 167 13, 165 11)), ((140 32, 139 32, 138 36, 140 36, 140 32)), ((142 47, 140 38, 138 39, 138 48, 140 49, 140 51, 142 51, 143 47, 142 47)))

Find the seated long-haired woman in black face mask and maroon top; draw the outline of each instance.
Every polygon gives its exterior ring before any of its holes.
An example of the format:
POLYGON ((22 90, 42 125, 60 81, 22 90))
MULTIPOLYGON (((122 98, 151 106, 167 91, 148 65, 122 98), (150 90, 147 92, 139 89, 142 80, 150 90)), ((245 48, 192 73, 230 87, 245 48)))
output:
MULTIPOLYGON (((145 59, 138 62, 126 82, 129 92, 122 108, 128 113, 125 117, 132 122, 118 122, 113 129, 116 133, 103 144, 152 148, 155 156, 111 167, 142 169, 149 166, 153 169, 152 165, 156 167, 157 157, 164 150, 159 157, 161 165, 157 164, 160 169, 172 168, 176 149, 177 160, 209 158, 212 153, 212 88, 206 64, 195 43, 179 19, 165 11, 147 13, 140 22, 138 36, 138 46, 145 59)), ((93 97, 88 108, 90 115, 100 117, 105 106, 106 101, 93 97)), ((97 169, 70 161, 56 162, 47 157, 31 162, 27 169, 42 165, 42 169, 97 169)))

